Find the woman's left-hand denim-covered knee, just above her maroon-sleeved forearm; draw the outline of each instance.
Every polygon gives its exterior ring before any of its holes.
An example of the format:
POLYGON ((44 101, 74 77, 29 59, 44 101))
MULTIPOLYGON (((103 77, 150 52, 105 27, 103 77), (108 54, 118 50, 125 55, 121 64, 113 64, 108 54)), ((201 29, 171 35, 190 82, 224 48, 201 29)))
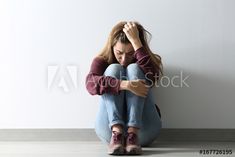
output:
POLYGON ((110 64, 104 72, 105 76, 113 76, 115 78, 121 78, 123 74, 124 67, 117 63, 110 64))

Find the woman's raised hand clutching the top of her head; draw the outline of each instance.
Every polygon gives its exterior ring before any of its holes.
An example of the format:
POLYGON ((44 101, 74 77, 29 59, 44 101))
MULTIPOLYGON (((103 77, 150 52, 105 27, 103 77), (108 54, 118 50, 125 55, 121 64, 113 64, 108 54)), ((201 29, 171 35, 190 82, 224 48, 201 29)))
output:
POLYGON ((124 25, 123 32, 126 34, 135 51, 143 46, 139 38, 138 28, 134 22, 127 22, 124 25))

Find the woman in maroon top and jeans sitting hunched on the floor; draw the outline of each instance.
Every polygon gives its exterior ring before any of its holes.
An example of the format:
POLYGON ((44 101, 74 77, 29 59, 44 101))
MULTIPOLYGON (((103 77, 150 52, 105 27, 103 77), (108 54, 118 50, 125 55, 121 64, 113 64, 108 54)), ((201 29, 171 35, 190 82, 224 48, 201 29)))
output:
POLYGON ((150 50, 147 33, 137 22, 119 22, 86 77, 88 92, 101 95, 95 131, 109 154, 141 154, 161 128, 151 87, 162 62, 150 50))

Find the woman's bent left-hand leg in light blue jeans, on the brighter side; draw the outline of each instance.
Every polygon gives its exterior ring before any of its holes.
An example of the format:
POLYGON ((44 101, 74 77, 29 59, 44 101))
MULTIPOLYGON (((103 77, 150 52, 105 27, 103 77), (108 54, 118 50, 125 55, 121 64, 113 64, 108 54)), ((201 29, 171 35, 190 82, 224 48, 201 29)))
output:
MULTIPOLYGON (((111 64, 104 72, 105 76, 121 79, 125 75, 125 69, 120 64, 111 64)), ((115 124, 124 126, 124 91, 114 95, 105 93, 101 95, 99 111, 96 117, 95 131, 97 136, 104 142, 109 143, 111 138, 111 127, 115 124)))

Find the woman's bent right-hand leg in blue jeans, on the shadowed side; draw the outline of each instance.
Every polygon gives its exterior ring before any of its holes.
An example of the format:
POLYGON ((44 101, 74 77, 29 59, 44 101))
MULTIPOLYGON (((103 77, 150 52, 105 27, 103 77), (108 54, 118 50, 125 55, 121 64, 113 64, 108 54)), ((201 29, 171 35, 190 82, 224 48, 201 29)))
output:
MULTIPOLYGON (((130 64, 127 67, 129 80, 145 79, 143 71, 138 64, 130 64)), ((159 135, 162 126, 161 119, 156 110, 153 96, 153 89, 150 88, 146 98, 126 92, 128 126, 140 128, 138 131, 139 143, 142 146, 151 144, 159 135)))

